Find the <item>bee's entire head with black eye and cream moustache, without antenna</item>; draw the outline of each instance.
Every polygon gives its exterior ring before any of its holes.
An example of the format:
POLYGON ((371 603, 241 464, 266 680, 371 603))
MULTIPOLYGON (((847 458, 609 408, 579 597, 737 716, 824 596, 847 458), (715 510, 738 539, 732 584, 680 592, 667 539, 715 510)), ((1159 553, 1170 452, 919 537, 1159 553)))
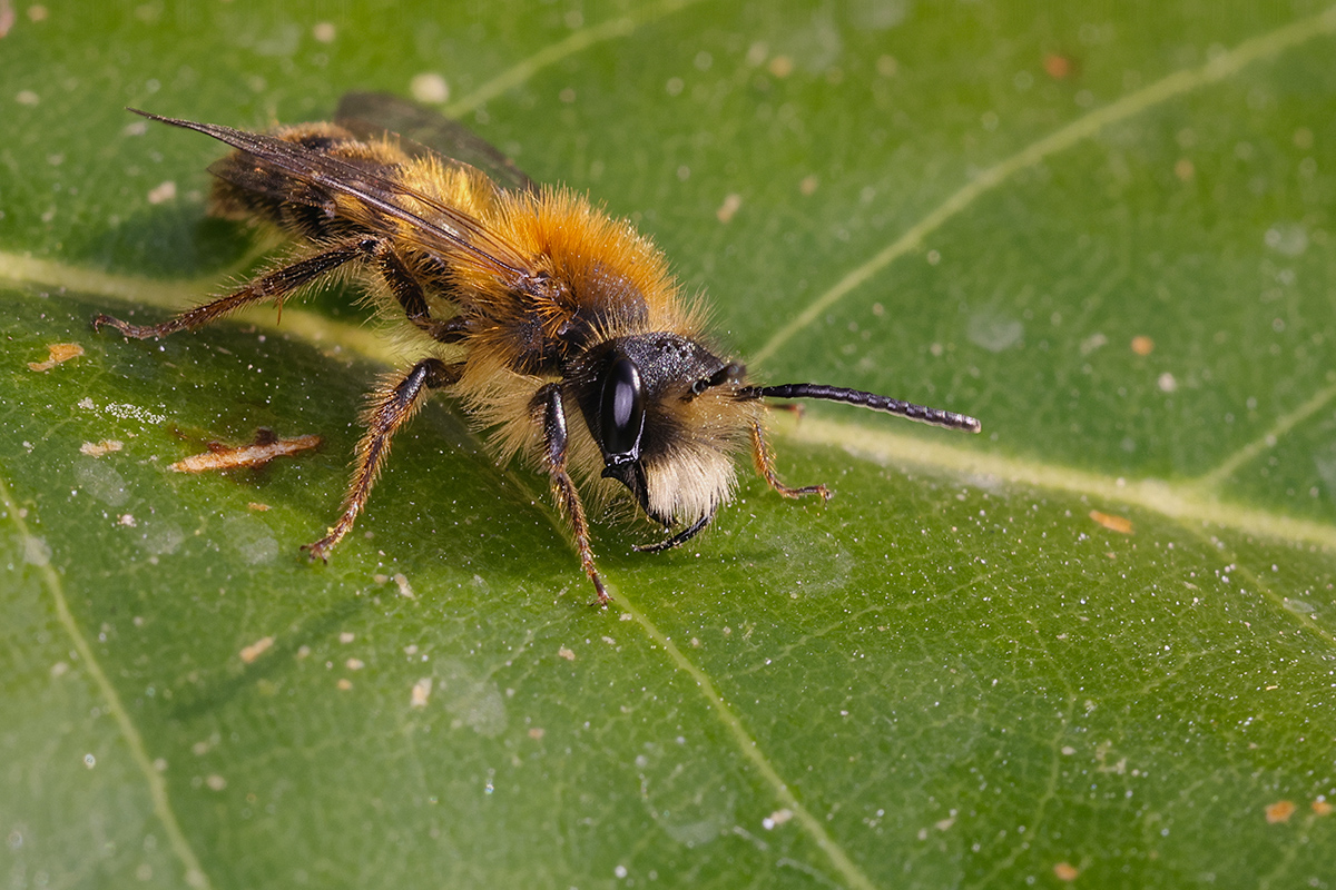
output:
POLYGON ((605 479, 624 484, 656 522, 696 522, 728 499, 732 452, 755 399, 745 370, 676 334, 640 334, 587 351, 568 375, 605 479))

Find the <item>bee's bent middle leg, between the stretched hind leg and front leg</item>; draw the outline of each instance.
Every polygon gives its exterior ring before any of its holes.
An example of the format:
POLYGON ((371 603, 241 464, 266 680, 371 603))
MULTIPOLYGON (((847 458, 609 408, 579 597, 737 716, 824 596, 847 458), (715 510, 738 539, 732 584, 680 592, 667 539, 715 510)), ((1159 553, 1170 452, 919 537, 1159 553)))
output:
POLYGON ((353 528, 357 514, 366 506, 375 478, 381 475, 394 432, 417 414, 429 391, 458 382, 461 371, 460 364, 446 364, 441 359, 422 359, 402 380, 373 395, 370 410, 366 412, 366 434, 357 444, 357 467, 343 496, 343 512, 338 522, 330 526, 329 534, 302 547, 313 559, 327 560, 334 544, 353 528))

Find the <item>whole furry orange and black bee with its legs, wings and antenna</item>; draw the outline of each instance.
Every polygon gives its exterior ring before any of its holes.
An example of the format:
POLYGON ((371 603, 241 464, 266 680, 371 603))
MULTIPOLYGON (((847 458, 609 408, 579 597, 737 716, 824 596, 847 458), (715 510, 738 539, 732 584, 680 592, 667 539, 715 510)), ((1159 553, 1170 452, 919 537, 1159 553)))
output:
POLYGON ((649 239, 584 195, 534 184, 461 124, 405 100, 350 93, 333 123, 267 133, 136 113, 230 145, 210 167, 211 212, 277 228, 294 247, 164 322, 99 315, 95 328, 163 338, 254 303, 282 310, 351 275, 422 356, 369 396, 342 512, 303 547, 311 558, 327 560, 353 528, 394 434, 437 391, 462 406, 500 462, 522 455, 548 475, 599 604, 609 595, 581 490, 629 492, 665 530, 637 547, 648 552, 709 524, 733 495, 743 451, 780 495, 830 498, 826 486, 790 487, 775 474, 767 399, 843 402, 979 431, 974 418, 859 390, 751 382, 713 344, 699 303, 684 299, 649 239))

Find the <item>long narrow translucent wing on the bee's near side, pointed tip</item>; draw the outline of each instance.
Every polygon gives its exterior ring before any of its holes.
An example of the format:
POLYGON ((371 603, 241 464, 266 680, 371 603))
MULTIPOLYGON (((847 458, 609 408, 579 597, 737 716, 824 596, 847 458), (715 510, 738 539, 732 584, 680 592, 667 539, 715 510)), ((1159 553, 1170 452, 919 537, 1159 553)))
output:
MULTIPOLYGON (((269 133, 253 133, 220 124, 202 124, 191 120, 162 117, 135 108, 130 111, 151 120, 212 136, 266 164, 277 167, 301 181, 354 197, 390 219, 406 223, 413 228, 415 240, 422 247, 438 251, 442 256, 466 255, 474 263, 485 264, 502 275, 513 276, 516 283, 526 280, 532 275, 529 262, 504 239, 488 231, 480 220, 389 179, 379 172, 382 169, 379 167, 357 164, 342 157, 334 157, 321 151, 287 141, 286 139, 270 136, 269 133), (411 199, 414 203, 428 207, 432 211, 433 219, 426 219, 420 212, 406 207, 403 199, 411 199)), ((257 177, 255 187, 259 191, 273 188, 271 177, 266 180, 262 169, 257 169, 254 176, 257 177), (266 185, 266 183, 269 184, 266 185)), ((235 176, 231 179, 235 181, 235 176)), ((244 187, 251 185, 248 181, 238 184, 244 187)))

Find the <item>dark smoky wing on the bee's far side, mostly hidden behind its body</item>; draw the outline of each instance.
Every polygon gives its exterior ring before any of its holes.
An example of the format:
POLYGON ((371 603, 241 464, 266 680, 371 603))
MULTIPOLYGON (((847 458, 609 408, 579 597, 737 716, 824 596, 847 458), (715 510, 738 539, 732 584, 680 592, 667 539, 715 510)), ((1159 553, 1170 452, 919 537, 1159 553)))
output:
POLYGON ((538 184, 500 148, 460 121, 393 93, 346 93, 334 123, 358 139, 398 136, 399 147, 410 156, 434 155, 445 164, 474 167, 506 191, 538 191, 538 184))

